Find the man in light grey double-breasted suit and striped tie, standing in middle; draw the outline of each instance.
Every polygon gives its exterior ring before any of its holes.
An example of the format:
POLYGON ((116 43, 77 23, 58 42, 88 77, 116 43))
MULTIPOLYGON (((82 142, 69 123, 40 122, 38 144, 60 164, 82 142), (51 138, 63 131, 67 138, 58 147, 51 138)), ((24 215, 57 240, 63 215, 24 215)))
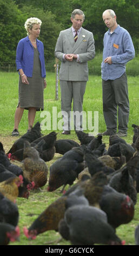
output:
POLYGON ((93 34, 82 27, 84 13, 75 9, 71 14, 72 27, 61 31, 57 39, 55 56, 61 60, 59 80, 63 132, 70 134, 70 112, 73 99, 74 129, 82 130, 82 105, 88 81, 88 60, 95 57, 93 34))

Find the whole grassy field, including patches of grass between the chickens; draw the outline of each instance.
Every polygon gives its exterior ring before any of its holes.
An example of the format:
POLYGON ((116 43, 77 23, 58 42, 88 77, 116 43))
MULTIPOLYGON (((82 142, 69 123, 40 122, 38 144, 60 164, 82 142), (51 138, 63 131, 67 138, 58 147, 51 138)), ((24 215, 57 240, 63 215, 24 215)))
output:
MULTIPOLYGON (((139 77, 128 77, 129 84, 129 100, 130 100, 130 117, 129 117, 129 129, 128 137, 125 140, 128 143, 132 143, 133 128, 131 125, 138 124, 138 89, 139 89, 139 77)), ((4 149, 7 152, 11 145, 17 138, 11 137, 11 131, 14 127, 14 114, 18 103, 18 74, 16 72, 0 72, 0 88, 1 88, 1 101, 0 101, 0 141, 4 145, 4 149)), ((44 90, 44 111, 52 113, 52 107, 57 107, 57 113, 61 110, 60 102, 60 89, 58 88, 58 100, 55 100, 55 73, 49 73, 47 76, 47 89, 44 90)), ((92 111, 92 126, 94 126, 94 112, 98 111, 98 132, 105 130, 105 123, 102 112, 102 87, 100 76, 89 76, 87 83, 87 89, 84 95, 83 110, 87 113, 92 111)), ((24 111, 24 115, 19 125, 20 135, 27 132, 28 129, 28 117, 27 111, 24 111)), ((42 112, 43 113, 43 112, 42 112)), ((35 123, 44 119, 40 117, 40 112, 37 112, 35 123)), ((52 120, 51 120, 52 130, 52 120)), ((44 130, 43 134, 48 134, 51 130, 44 130)), ((61 135, 61 131, 57 130, 57 139, 70 138, 78 142, 77 136, 74 131, 71 131, 70 136, 61 135)), ((87 131, 90 131, 87 129, 87 131)), ((103 142, 109 143, 109 138, 106 136, 103 138, 103 142)), ((47 162, 48 168, 52 162, 56 161, 61 155, 56 154, 54 159, 47 162)), ((19 165, 18 162, 14 162, 19 165)), ((19 208, 19 228, 21 229, 21 239, 19 242, 13 243, 13 245, 70 245, 68 241, 62 239, 57 242, 60 237, 54 230, 47 231, 37 236, 36 240, 29 241, 27 237, 23 235, 23 227, 29 227, 30 224, 38 217, 41 212, 47 208, 52 202, 54 202, 61 194, 59 191, 61 188, 54 192, 47 192, 47 186, 43 187, 43 192, 31 192, 29 199, 17 198, 17 205, 19 208)), ((68 186, 67 186, 68 188, 68 186)), ((134 245, 134 230, 139 223, 139 203, 135 205, 134 220, 129 224, 121 225, 117 228, 116 233, 122 240, 125 240, 126 245, 134 245)), ((12 243, 10 243, 12 245, 12 243)))

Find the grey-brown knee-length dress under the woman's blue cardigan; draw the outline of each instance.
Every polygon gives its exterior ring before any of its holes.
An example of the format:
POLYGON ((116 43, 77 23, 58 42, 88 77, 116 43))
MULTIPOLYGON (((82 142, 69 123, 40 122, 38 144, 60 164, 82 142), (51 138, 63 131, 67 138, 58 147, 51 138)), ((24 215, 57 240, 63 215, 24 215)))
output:
MULTIPOLYGON (((19 101, 21 108, 29 109, 35 107, 37 111, 43 110, 43 89, 44 78, 41 76, 41 63, 39 60, 39 53, 34 47, 34 69, 32 77, 28 77, 29 84, 22 83, 21 76, 19 76, 19 101)), ((17 107, 18 107, 17 106, 17 107)))

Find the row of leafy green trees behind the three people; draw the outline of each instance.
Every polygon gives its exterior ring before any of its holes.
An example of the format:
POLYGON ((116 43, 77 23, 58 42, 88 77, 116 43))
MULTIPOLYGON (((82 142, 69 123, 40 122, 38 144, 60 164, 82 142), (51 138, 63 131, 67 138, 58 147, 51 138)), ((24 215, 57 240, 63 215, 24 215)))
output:
POLYGON ((46 61, 54 59, 59 32, 71 26, 74 9, 83 10, 83 27, 94 34, 97 52, 103 49, 107 31, 102 20, 106 9, 115 11, 117 23, 129 31, 136 54, 139 52, 139 0, 0 0, 0 62, 15 62, 18 41, 27 36, 24 23, 29 17, 42 21, 39 40, 43 41, 46 61))

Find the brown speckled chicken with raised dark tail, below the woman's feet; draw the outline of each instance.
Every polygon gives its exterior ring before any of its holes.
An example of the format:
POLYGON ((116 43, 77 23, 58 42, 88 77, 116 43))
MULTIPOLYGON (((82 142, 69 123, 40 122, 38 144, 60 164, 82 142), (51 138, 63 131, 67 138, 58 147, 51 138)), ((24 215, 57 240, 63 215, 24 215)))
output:
POLYGON ((28 141, 24 142, 23 159, 21 168, 23 169, 24 178, 29 182, 34 182, 34 188, 44 186, 47 183, 48 166, 28 141))

